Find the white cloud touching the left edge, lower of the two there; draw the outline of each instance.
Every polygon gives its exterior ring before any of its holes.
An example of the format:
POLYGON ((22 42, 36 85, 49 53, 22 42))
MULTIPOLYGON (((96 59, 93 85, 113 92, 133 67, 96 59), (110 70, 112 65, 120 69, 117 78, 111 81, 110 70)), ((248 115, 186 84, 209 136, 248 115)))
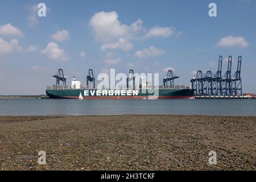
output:
POLYGON ((14 51, 23 53, 34 52, 36 51, 36 47, 28 46, 26 49, 24 49, 23 47, 19 46, 19 40, 17 39, 12 39, 9 43, 0 38, 0 55, 8 55, 14 51))

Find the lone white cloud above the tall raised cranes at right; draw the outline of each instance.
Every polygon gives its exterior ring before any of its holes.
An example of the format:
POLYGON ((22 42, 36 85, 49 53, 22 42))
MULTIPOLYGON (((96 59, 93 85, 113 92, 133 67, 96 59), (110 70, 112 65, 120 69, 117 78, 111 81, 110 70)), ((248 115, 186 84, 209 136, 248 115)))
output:
POLYGON ((232 47, 232 46, 238 46, 245 48, 249 45, 249 43, 246 42, 245 38, 242 36, 226 36, 225 38, 222 38, 217 44, 217 47, 232 47))

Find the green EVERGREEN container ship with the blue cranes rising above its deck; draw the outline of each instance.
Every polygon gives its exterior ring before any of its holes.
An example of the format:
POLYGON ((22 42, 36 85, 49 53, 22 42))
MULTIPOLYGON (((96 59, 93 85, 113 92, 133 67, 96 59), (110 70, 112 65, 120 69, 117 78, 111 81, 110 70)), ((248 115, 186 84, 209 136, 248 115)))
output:
POLYGON ((172 71, 168 71, 167 76, 163 78, 163 85, 152 86, 150 82, 146 81, 146 77, 142 77, 138 88, 135 86, 134 71, 129 71, 127 77, 126 88, 123 89, 95 89, 95 78, 93 70, 89 69, 88 76, 86 77, 86 88, 83 88, 80 81, 75 77, 72 78, 71 86, 66 85, 66 77, 63 70, 59 71, 53 77, 56 78, 56 85, 47 86, 46 94, 49 98, 70 98, 70 99, 192 99, 193 89, 185 85, 174 85, 174 80, 177 77, 172 71), (60 85, 63 81, 63 85, 60 85), (93 82, 92 88, 89 88, 89 82, 93 82), (132 82, 132 85, 129 85, 132 82), (168 85, 168 82, 170 84, 168 85))

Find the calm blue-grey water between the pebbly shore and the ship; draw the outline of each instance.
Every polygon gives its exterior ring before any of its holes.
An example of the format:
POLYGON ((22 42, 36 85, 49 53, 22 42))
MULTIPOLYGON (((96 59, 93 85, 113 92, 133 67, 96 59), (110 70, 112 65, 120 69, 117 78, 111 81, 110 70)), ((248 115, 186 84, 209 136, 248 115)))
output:
POLYGON ((256 116, 256 100, 0 99, 0 115, 184 114, 256 116))

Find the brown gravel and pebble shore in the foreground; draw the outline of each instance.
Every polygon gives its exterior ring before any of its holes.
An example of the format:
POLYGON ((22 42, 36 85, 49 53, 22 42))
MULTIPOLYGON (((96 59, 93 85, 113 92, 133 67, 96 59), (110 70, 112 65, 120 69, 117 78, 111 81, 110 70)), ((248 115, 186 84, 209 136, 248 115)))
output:
POLYGON ((0 117, 0 169, 255 170, 255 131, 256 117, 0 117))

